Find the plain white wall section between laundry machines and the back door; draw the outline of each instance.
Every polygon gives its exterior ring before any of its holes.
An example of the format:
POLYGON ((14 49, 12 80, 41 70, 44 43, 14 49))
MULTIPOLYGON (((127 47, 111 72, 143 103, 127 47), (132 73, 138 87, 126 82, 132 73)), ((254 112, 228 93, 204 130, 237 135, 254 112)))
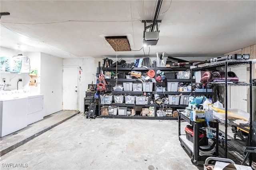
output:
POLYGON ((40 92, 44 94, 44 116, 62 110, 63 59, 41 53, 40 92))

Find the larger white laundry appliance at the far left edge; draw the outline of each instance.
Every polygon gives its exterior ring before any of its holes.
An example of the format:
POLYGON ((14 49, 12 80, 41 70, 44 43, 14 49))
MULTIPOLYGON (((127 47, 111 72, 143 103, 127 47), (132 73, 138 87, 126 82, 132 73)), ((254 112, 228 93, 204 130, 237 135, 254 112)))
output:
POLYGON ((27 126, 28 97, 2 95, 0 98, 0 137, 27 126))

